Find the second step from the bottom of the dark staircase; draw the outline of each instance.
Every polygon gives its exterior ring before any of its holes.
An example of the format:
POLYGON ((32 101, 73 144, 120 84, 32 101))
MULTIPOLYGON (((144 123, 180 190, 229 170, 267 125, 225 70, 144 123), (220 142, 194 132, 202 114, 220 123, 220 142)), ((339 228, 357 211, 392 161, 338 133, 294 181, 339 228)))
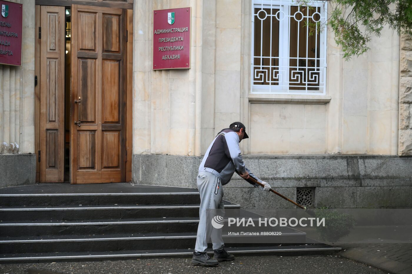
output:
MULTIPOLYGON (((260 236, 259 243, 248 242, 250 237, 222 235, 228 247, 236 246, 270 246, 274 244, 287 244, 287 238, 293 238, 294 244, 304 244, 304 233, 283 233, 277 236, 260 236)), ((291 240, 290 240, 291 241, 291 240)), ((76 236, 42 236, 42 237, 1 237, 0 253, 42 253, 42 252, 88 252, 88 251, 124 251, 124 250, 150 250, 162 246, 164 249, 193 248, 196 243, 196 232, 192 233, 148 233, 117 234, 117 235, 76 235, 76 236)), ((211 246, 210 246, 211 247, 211 246)))

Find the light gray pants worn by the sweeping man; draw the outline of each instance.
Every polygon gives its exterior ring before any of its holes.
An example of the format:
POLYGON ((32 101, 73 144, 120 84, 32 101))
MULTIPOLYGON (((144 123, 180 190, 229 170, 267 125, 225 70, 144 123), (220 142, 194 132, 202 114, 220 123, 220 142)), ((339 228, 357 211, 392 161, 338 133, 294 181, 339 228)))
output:
POLYGON ((223 188, 220 179, 207 171, 201 171, 197 175, 197 188, 200 194, 199 227, 195 251, 206 252, 208 239, 212 239, 213 249, 223 247, 222 228, 212 226, 212 218, 216 215, 224 217, 223 188))

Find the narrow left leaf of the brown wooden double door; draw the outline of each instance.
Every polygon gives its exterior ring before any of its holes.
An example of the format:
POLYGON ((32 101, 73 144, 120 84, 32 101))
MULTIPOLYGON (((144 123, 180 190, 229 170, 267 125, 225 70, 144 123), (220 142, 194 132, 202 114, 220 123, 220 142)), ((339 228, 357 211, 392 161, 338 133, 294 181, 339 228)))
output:
POLYGON ((64 7, 40 7, 40 182, 64 181, 64 7))

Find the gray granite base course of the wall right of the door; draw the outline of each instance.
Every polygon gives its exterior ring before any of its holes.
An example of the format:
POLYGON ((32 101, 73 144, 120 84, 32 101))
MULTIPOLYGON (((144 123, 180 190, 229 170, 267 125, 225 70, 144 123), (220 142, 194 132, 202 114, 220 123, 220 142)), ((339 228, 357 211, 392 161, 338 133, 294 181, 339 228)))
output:
MULTIPOLYGON (((243 156, 248 169, 272 188, 296 200, 296 188, 314 187, 315 206, 412 208, 412 157, 243 156)), ((133 155, 133 182, 197 188, 202 157, 133 155)), ((225 199, 243 208, 295 208, 273 193, 254 188, 234 174, 225 199)))

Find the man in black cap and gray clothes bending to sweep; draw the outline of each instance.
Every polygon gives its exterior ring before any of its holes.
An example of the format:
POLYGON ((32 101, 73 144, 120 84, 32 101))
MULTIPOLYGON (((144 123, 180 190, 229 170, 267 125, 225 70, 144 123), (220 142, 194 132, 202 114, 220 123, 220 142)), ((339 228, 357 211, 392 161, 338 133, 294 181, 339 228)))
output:
MULTIPOLYGON (((197 228, 196 246, 193 252, 192 263, 204 266, 216 266, 219 262, 234 260, 224 248, 222 229, 213 228, 210 212, 225 212, 223 206, 223 188, 229 183, 233 173, 237 171, 243 179, 249 176, 262 183, 262 190, 269 191, 268 183, 258 179, 245 167, 239 148, 242 139, 249 138, 246 127, 241 122, 232 123, 213 139, 199 166, 197 187, 200 194, 199 227, 197 228), (206 253, 209 237, 213 243, 213 258, 206 253)), ((259 186, 255 184, 254 186, 259 186)))

